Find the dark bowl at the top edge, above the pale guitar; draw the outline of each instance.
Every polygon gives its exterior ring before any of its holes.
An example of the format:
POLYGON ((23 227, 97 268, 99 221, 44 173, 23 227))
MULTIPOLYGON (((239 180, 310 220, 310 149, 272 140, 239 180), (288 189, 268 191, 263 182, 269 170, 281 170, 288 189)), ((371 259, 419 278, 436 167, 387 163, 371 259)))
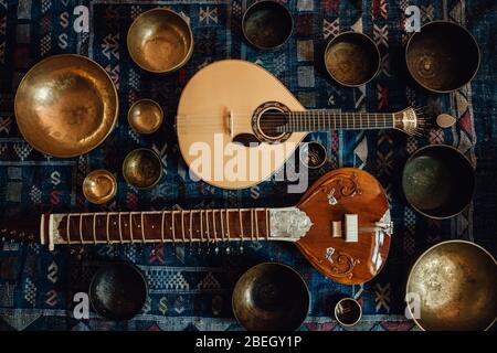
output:
POLYGON ((253 3, 242 19, 242 32, 246 41, 261 50, 274 50, 283 45, 290 36, 293 26, 288 9, 269 0, 253 3))

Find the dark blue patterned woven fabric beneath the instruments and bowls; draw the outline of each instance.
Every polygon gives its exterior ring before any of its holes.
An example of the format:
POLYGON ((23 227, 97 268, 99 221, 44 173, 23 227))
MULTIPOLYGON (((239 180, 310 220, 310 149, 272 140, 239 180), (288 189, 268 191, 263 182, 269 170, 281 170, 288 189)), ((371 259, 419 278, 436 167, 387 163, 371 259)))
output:
MULTIPOLYGON (((303 330, 342 330, 331 318, 330 299, 345 293, 363 304, 363 319, 353 330, 416 330, 404 317, 404 286, 410 265, 431 244, 448 238, 474 240, 496 254, 497 228, 497 3, 477 0, 288 0, 294 34, 281 49, 261 52, 241 36, 241 17, 253 1, 74 1, 0 0, 0 212, 4 215, 41 212, 148 211, 171 207, 283 206, 299 195, 286 194, 274 180, 243 191, 223 191, 193 182, 182 161, 173 131, 179 95, 188 79, 216 60, 255 62, 277 76, 308 108, 343 111, 394 111, 424 105, 433 113, 451 113, 457 124, 432 129, 423 138, 395 131, 311 133, 327 149, 327 163, 311 181, 338 167, 356 167, 376 175, 392 206, 394 236, 384 269, 361 286, 342 286, 325 278, 292 244, 254 242, 240 253, 166 245, 97 246, 50 253, 40 245, 0 244, 0 330, 240 330, 231 311, 231 291, 250 266, 275 260, 296 268, 311 292, 311 309, 303 330), (411 85, 403 67, 409 39, 402 23, 409 4, 421 9, 422 23, 463 20, 482 47, 476 78, 454 94, 427 94, 411 85), (195 50, 179 72, 157 76, 136 66, 126 49, 133 20, 156 6, 184 14, 192 26, 195 50), (86 17, 87 14, 87 17, 86 17), (85 30, 85 21, 88 31, 85 30), (363 32, 379 45, 382 67, 366 86, 345 88, 322 66, 326 43, 343 31, 363 32), (80 53, 98 62, 115 82, 120 114, 115 131, 97 149, 73 159, 56 159, 33 150, 20 136, 13 115, 17 86, 40 58, 80 53), (150 137, 138 136, 127 124, 129 106, 139 98, 158 100, 166 121, 150 137), (429 221, 405 205, 400 190, 402 167, 416 148, 430 143, 457 147, 476 167, 474 203, 450 221, 429 221), (154 148, 165 173, 150 191, 127 185, 119 172, 125 154, 137 147, 154 148), (85 202, 81 184, 93 169, 116 173, 118 193, 106 206, 85 202), (73 295, 87 291, 92 274, 106 260, 125 259, 145 272, 150 295, 142 312, 128 322, 73 317, 73 295)), ((207 93, 209 94, 209 93, 207 93)))

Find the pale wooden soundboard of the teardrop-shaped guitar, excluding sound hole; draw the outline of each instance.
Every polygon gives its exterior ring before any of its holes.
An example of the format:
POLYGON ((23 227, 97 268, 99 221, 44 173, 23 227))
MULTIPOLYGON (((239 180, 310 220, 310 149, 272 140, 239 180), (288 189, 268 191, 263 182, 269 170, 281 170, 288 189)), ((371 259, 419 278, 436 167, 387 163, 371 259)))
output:
POLYGON ((292 157, 306 132, 294 132, 278 143, 283 148, 281 156, 272 152, 271 143, 245 147, 236 142, 244 136, 254 136, 254 111, 268 101, 279 103, 293 111, 305 110, 277 78, 246 61, 215 62, 189 81, 178 105, 176 128, 181 154, 197 178, 223 189, 245 189, 269 178, 292 157), (209 165, 199 167, 199 149, 204 148, 211 153, 205 158, 209 165), (234 153, 226 156, 230 152, 223 151, 233 149, 247 157, 236 159, 236 162, 243 163, 236 167, 240 178, 228 175, 234 153), (251 161, 248 153, 257 158, 251 161), (255 174, 251 176, 250 172, 255 174))

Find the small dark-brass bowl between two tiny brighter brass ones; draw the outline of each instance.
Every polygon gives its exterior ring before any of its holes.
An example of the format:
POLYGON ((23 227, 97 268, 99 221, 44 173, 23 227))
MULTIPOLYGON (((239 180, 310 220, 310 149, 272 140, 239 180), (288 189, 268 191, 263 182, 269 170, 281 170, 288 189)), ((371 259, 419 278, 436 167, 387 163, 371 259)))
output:
POLYGON ((147 148, 133 150, 123 162, 123 176, 136 189, 152 188, 162 176, 160 157, 147 148))

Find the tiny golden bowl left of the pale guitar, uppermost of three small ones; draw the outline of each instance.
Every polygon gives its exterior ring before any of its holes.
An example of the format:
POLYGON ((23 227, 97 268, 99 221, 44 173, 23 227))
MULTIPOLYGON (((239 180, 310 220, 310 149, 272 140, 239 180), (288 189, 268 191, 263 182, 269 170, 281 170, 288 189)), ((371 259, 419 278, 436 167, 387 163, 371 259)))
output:
POLYGON ((162 108, 151 99, 135 101, 128 111, 129 126, 138 133, 156 132, 162 124, 162 108))

